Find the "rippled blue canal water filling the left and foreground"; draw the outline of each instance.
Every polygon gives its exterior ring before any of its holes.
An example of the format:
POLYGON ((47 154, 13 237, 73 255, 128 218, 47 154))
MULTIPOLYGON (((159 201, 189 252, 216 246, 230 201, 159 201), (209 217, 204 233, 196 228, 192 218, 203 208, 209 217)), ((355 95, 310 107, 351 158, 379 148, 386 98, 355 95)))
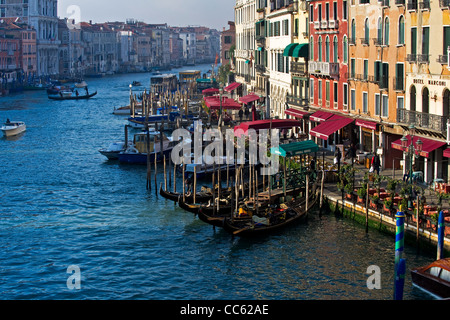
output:
MULTIPOLYGON (((112 111, 128 103, 132 81, 148 87, 149 77, 88 79, 98 91, 89 101, 45 92, 0 99, 1 121, 27 124, 23 135, 0 138, 0 299, 392 299, 391 236, 312 213, 275 235, 233 238, 154 185, 147 191, 145 166, 107 161, 98 149, 122 140, 126 123, 112 111), (367 286, 372 265, 380 289, 367 286), (68 286, 70 266, 79 289, 68 286)), ((404 257, 408 270, 434 260, 411 247, 404 257)), ((404 299, 433 298, 408 272, 404 299)))

